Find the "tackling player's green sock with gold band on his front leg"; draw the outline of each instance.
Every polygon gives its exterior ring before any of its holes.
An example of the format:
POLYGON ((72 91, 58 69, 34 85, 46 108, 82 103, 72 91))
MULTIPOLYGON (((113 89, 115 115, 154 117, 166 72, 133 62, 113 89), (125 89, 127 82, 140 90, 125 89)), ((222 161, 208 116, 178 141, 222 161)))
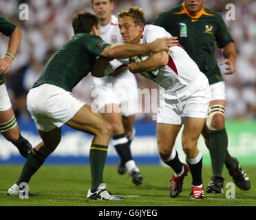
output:
POLYGON ((89 162, 91 165, 92 188, 94 192, 98 185, 103 183, 103 170, 107 157, 108 146, 92 144, 89 151, 89 162))

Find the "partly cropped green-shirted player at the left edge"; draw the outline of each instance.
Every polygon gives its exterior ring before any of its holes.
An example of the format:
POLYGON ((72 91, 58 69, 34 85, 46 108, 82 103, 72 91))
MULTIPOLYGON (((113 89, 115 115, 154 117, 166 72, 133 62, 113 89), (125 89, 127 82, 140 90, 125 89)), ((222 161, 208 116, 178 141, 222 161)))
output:
POLYGON ((12 142, 18 148, 23 157, 27 158, 32 146, 20 133, 6 85, 4 84, 4 74, 10 71, 12 61, 14 61, 21 44, 22 33, 16 25, 1 16, 0 32, 10 36, 6 56, 0 58, 0 132, 6 140, 12 142))

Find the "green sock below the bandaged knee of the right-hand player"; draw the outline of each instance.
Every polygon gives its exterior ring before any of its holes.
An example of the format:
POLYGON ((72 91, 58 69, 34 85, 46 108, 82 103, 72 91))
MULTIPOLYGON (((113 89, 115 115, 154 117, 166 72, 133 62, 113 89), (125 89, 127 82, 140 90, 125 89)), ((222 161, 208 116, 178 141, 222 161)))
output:
POLYGON ((213 175, 222 176, 227 148, 228 136, 226 135, 226 129, 210 131, 209 151, 213 175))

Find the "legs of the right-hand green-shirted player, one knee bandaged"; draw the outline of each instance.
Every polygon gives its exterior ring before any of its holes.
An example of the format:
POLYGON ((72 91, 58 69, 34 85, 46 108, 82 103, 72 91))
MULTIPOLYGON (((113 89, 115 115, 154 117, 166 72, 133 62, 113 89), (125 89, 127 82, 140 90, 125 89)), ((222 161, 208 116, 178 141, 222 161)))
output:
POLYGON ((211 155, 213 176, 206 192, 222 193, 224 179, 222 170, 224 164, 228 168, 228 172, 233 177, 235 184, 242 190, 250 189, 250 181, 239 162, 228 153, 228 136, 225 128, 225 100, 213 100, 209 105, 209 118, 207 119, 207 128, 204 128, 204 136, 208 136, 209 151, 211 155))

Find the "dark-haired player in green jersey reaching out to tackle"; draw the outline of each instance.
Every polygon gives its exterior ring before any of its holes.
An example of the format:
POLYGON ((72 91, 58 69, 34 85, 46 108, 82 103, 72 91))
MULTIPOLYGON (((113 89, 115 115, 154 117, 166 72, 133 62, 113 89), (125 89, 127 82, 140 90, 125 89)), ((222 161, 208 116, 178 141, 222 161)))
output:
POLYGON ((94 72, 97 56, 127 58, 137 54, 169 50, 173 38, 162 38, 148 45, 109 45, 100 36, 98 18, 89 12, 80 12, 72 19, 74 36, 47 62, 39 79, 30 89, 27 107, 43 142, 35 146, 23 166, 21 176, 8 190, 8 195, 19 196, 19 184, 30 178, 61 141, 61 126, 67 124, 78 131, 94 135, 89 151, 92 187, 88 199, 123 200, 107 191, 103 183, 103 169, 111 137, 111 126, 89 105, 72 96, 77 83, 94 72))

